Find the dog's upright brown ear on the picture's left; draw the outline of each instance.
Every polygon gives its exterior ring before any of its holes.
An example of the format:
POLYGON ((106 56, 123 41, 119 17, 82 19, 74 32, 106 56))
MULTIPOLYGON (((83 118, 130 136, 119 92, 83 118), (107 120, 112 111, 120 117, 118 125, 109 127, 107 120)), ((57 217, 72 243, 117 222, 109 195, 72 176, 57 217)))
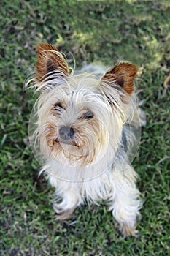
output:
POLYGON ((36 73, 38 80, 44 80, 47 76, 55 74, 55 77, 69 75, 69 67, 63 55, 54 45, 40 43, 36 47, 37 61, 36 73))

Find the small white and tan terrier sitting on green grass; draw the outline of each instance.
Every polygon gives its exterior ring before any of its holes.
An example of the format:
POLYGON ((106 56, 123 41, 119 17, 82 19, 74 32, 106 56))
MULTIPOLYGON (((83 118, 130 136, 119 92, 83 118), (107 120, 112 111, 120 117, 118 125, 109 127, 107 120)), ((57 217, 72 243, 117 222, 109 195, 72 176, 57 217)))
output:
POLYGON ((106 200, 123 235, 136 235, 142 200, 130 164, 134 131, 142 124, 134 94, 137 71, 120 62, 101 78, 73 75, 55 46, 37 46, 31 81, 40 95, 31 143, 45 161, 40 173, 55 187, 57 219, 69 218, 85 200, 106 200))

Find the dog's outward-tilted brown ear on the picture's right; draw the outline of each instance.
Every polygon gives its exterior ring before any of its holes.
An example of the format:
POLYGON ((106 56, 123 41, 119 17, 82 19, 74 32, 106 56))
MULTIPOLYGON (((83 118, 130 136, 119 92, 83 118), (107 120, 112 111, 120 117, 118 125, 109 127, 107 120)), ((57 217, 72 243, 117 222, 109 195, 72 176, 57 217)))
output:
POLYGON ((134 78, 137 71, 135 65, 122 62, 109 69, 101 80, 113 82, 122 87, 128 95, 131 95, 134 91, 134 78))

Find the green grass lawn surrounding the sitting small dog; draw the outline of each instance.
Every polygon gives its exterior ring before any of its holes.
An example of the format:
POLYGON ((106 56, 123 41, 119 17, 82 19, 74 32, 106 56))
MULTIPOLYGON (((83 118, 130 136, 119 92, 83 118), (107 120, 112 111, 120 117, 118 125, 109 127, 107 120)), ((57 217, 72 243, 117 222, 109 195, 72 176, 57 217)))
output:
POLYGON ((170 255, 170 92, 163 87, 169 1, 4 0, 0 15, 1 255, 170 255), (28 148, 34 91, 23 89, 41 41, 72 53, 77 67, 123 59, 143 67, 137 87, 147 126, 133 163, 145 197, 138 238, 120 236, 104 206, 78 208, 63 223, 53 218, 53 189, 37 179, 39 165, 28 148))

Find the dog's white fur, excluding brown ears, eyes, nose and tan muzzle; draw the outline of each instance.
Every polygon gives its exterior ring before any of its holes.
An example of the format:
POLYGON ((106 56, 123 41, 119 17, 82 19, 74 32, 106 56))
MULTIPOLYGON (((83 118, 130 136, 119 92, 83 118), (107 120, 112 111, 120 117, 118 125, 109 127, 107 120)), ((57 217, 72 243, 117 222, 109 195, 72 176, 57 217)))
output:
MULTIPOLYGON (((135 235, 136 218, 139 217, 142 201, 139 200, 139 190, 135 185, 137 175, 128 164, 121 141, 123 125, 127 121, 133 124, 136 116, 134 96, 128 97, 116 84, 109 86, 108 83, 101 83, 93 75, 47 80, 42 86, 46 90, 40 95, 37 104, 38 121, 34 139, 45 157, 41 173, 45 172, 50 184, 55 187, 53 208, 58 219, 62 219, 62 214, 72 212, 85 203, 85 200, 95 204, 107 200, 109 211, 120 223, 124 236, 135 235), (125 97, 124 102, 122 97, 125 97), (50 114, 51 108, 58 101, 66 105, 59 117, 50 114), (81 159, 72 162, 67 159, 65 151, 72 154, 73 146, 63 144, 59 153, 51 153, 45 139, 48 122, 54 124, 58 135, 61 125, 77 127, 77 120, 80 120, 85 109, 92 110, 98 120, 94 130, 91 127, 88 129, 85 121, 80 126, 82 134, 87 135, 84 154, 96 152, 89 165, 81 165, 81 159), (99 132, 98 137, 96 132, 99 132)), ((128 142, 133 141, 133 134, 128 131, 126 134, 128 142)), ((79 136, 77 140, 84 140, 82 135, 79 136)), ((78 154, 78 151, 75 152, 78 154)))

